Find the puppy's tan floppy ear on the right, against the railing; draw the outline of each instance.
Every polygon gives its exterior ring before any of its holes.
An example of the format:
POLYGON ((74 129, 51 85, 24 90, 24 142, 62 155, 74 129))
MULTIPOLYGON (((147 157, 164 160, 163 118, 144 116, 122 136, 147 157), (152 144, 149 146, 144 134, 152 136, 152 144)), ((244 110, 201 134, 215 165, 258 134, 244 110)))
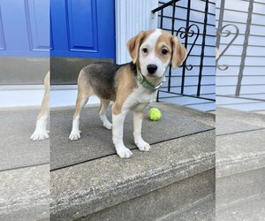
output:
POLYGON ((175 69, 186 59, 186 48, 178 41, 176 36, 172 36, 172 57, 171 65, 175 69))

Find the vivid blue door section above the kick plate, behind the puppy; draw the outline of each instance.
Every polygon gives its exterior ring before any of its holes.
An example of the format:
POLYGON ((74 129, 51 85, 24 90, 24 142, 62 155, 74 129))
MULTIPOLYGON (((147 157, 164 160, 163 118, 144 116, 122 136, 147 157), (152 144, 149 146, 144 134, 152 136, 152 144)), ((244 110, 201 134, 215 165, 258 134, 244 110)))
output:
POLYGON ((114 0, 51 0, 51 57, 115 60, 114 0))

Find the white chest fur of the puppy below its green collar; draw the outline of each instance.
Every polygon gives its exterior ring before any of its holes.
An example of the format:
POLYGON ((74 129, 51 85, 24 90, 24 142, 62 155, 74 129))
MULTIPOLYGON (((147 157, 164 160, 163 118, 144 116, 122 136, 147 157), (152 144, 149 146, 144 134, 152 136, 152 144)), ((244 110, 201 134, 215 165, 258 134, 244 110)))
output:
POLYGON ((127 97, 122 110, 144 110, 148 107, 149 103, 155 101, 157 91, 151 92, 148 88, 138 85, 138 88, 133 89, 131 95, 127 97))

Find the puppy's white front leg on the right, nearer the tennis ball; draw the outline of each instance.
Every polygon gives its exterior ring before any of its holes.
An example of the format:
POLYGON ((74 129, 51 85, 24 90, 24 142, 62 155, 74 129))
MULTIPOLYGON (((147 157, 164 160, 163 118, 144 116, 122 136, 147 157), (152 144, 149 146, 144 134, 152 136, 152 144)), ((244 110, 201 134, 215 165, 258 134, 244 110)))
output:
POLYGON ((150 145, 141 138, 141 125, 142 125, 143 117, 144 117, 143 111, 133 112, 133 137, 134 137, 134 142, 136 146, 141 151, 149 151, 150 145))

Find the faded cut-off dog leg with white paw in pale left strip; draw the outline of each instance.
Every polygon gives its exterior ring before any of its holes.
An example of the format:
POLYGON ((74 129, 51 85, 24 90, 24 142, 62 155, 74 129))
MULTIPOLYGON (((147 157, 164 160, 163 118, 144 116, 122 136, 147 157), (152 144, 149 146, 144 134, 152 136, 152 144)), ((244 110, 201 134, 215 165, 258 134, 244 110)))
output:
POLYGON ((49 117, 49 72, 44 78, 44 87, 45 92, 42 99, 42 110, 38 115, 34 133, 30 137, 30 139, 34 141, 45 140, 49 138, 49 131, 46 128, 49 117))

